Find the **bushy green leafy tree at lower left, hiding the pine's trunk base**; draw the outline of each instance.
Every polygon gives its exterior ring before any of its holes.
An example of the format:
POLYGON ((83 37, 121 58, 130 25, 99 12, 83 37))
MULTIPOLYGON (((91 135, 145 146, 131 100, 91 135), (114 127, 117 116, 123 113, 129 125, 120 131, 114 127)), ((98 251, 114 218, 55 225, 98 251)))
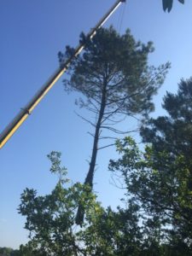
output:
POLYGON ((129 207, 116 212, 104 209, 96 195, 86 193, 86 185, 67 184, 60 157, 58 152, 49 154, 50 172, 59 176, 49 195, 39 196, 34 189, 21 194, 19 212, 26 216, 30 241, 20 246, 20 255, 140 255, 138 206, 130 201, 129 207), (75 224, 79 203, 85 212, 81 228, 75 224))

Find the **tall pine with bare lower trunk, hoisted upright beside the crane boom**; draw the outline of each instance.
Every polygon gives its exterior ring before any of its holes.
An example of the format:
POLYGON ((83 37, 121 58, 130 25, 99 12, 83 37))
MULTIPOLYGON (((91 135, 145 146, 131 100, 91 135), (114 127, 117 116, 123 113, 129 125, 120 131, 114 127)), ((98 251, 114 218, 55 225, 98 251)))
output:
MULTIPOLYGON (((70 69, 70 79, 65 80, 67 90, 77 90, 84 98, 79 100, 80 107, 94 114, 94 120, 86 119, 93 127, 92 154, 90 166, 84 183, 93 187, 96 167, 96 156, 99 141, 110 136, 104 131, 125 134, 115 125, 119 119, 148 116, 154 110, 152 98, 163 83, 169 63, 160 67, 148 66, 148 55, 154 48, 151 42, 136 42, 129 30, 119 35, 113 27, 100 29, 94 38, 87 41, 84 34, 81 41, 85 42, 84 54, 79 55, 70 69)), ((61 65, 63 58, 70 55, 73 49, 67 47, 65 55, 59 53, 61 65)), ((84 209, 79 206, 77 224, 84 220, 84 209)))

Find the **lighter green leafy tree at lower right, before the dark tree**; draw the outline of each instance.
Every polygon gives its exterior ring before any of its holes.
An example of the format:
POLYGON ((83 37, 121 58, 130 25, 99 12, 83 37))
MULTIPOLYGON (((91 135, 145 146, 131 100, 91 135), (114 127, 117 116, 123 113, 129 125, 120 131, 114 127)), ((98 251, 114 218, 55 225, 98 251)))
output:
POLYGON ((130 137, 117 148, 121 157, 109 169, 140 206, 144 255, 191 255, 192 201, 183 156, 172 161, 169 152, 151 146, 142 152, 130 137))

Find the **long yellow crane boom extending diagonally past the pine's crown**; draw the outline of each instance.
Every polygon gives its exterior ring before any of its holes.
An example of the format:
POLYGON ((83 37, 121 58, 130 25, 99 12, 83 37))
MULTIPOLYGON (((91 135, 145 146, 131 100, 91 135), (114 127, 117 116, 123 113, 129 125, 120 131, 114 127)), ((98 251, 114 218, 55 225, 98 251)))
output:
MULTIPOLYGON (((103 26, 103 24, 108 20, 108 18, 113 15, 113 12, 119 8, 121 3, 125 3, 125 0, 118 0, 113 4, 111 9, 108 10, 108 13, 102 17, 101 20, 96 24, 96 26, 90 30, 87 34, 87 38, 91 39, 96 35, 96 31, 103 26)), ((79 44, 74 51, 74 54, 65 61, 62 67, 59 67, 55 73, 48 79, 48 81, 41 87, 40 90, 32 97, 32 100, 26 104, 25 108, 20 110, 15 116, 15 119, 10 122, 10 124, 3 130, 0 135, 0 148, 3 148, 3 145, 7 143, 10 137, 17 131, 17 129, 22 125, 22 123, 27 119, 29 114, 32 113, 32 110, 38 105, 38 103, 44 98, 48 91, 53 87, 55 82, 61 78, 61 75, 67 71, 67 68, 70 66, 73 59, 81 53, 84 49, 84 44, 79 44)))

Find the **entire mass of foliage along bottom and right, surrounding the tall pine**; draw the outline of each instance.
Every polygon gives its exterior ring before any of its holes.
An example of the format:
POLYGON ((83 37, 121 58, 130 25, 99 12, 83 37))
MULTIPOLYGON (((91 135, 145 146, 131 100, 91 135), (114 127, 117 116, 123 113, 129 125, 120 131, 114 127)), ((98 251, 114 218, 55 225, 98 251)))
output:
POLYGON ((142 129, 143 150, 131 137, 116 142, 119 159, 109 170, 125 189, 124 207, 102 207, 87 185, 67 179, 61 154, 49 154, 58 183, 49 195, 21 195, 30 241, 20 255, 192 255, 192 79, 167 93, 163 107, 168 115, 142 129))

